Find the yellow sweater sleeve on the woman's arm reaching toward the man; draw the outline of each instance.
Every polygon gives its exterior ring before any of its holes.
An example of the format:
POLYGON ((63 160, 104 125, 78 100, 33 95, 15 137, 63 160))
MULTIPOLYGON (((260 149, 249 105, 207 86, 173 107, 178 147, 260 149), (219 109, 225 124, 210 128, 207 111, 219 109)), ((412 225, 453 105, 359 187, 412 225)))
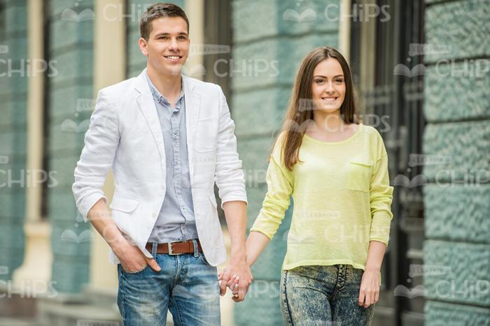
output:
POLYGON ((278 140, 267 168, 267 194, 251 231, 260 232, 269 239, 274 237, 290 204, 290 195, 293 192, 292 180, 292 172, 282 163, 281 141, 278 140))

